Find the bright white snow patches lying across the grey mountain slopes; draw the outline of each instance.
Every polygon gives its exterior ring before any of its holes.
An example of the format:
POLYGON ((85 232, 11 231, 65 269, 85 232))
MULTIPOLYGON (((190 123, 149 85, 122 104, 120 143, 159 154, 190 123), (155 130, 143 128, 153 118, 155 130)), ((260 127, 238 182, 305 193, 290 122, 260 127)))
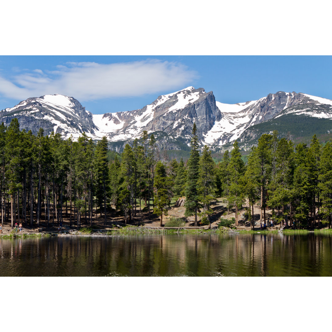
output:
MULTIPOLYGON (((202 94, 205 94, 204 91, 195 91, 196 89, 193 86, 187 87, 183 90, 176 91, 167 95, 162 95, 158 97, 152 104, 147 105, 142 109, 141 114, 138 114, 137 111, 129 112, 118 112, 118 113, 108 113, 108 114, 92 114, 88 111, 85 111, 87 115, 92 116, 92 121, 95 127, 98 129, 91 128, 90 132, 86 132, 89 137, 93 139, 100 139, 103 136, 107 136, 111 141, 125 140, 128 138, 139 137, 144 128, 154 119, 155 110, 158 106, 164 104, 166 101, 172 99, 174 103, 173 106, 166 108, 165 114, 169 112, 177 113, 179 110, 182 110, 186 106, 197 101, 202 94), (129 119, 128 122, 121 119, 129 119)), ((275 100, 276 96, 279 93, 272 95, 272 101, 275 100)), ((331 112, 317 111, 314 112, 310 109, 294 110, 289 109, 290 100, 294 97, 293 93, 285 93, 287 96, 287 102, 285 101, 285 106, 283 114, 293 113, 295 115, 305 114, 317 118, 326 118, 332 119, 332 100, 311 96, 308 94, 301 94, 304 97, 308 97, 308 103, 321 105, 326 104, 330 105, 331 112), (314 103, 313 103, 314 102, 314 103)), ((259 100, 253 100, 248 102, 242 102, 237 104, 225 104, 216 101, 216 106, 221 112, 221 120, 216 121, 212 128, 205 134, 203 144, 219 144, 222 145, 225 142, 233 141, 237 139, 243 131, 249 126, 259 123, 262 119, 262 115, 257 111, 261 103, 266 103, 267 97, 263 97, 259 100)), ((7 108, 5 111, 14 111, 20 107, 24 107, 27 111, 24 111, 25 115, 31 117, 37 117, 39 109, 37 104, 40 104, 43 109, 46 109, 50 113, 44 115, 43 119, 49 120, 54 124, 54 132, 57 128, 62 128, 65 132, 65 137, 68 138, 71 135, 73 138, 78 138, 81 135, 81 131, 77 128, 72 127, 71 123, 73 118, 79 121, 81 116, 77 113, 77 101, 72 97, 63 96, 63 95, 45 95, 40 98, 33 98, 30 101, 22 101, 13 108, 7 108), (76 103, 76 105, 75 105, 76 103), (26 106, 26 107, 25 107, 26 106)), ((79 104, 79 103, 78 103, 79 104)), ((82 109, 81 109, 82 112, 82 109)), ((280 117, 278 115, 275 118, 280 117)), ((186 117, 185 117, 186 118, 186 117)), ((177 119, 172 125, 173 129, 181 123, 183 119, 177 119)), ((78 128, 82 130, 80 123, 76 123, 78 128)), ((181 132, 184 129, 184 126, 177 129, 177 136, 181 136, 181 132)), ((152 130, 150 130, 152 131, 152 130)))

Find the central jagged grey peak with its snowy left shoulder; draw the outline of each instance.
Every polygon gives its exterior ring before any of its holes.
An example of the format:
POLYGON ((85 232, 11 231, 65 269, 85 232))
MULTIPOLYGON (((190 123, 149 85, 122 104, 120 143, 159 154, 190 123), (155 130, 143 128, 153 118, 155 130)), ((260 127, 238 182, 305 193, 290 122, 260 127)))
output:
POLYGON ((169 95, 159 96, 152 104, 130 112, 94 116, 100 132, 111 141, 139 137, 143 130, 163 131, 174 137, 190 140, 193 123, 198 136, 210 130, 221 119, 212 91, 188 87, 169 95))

